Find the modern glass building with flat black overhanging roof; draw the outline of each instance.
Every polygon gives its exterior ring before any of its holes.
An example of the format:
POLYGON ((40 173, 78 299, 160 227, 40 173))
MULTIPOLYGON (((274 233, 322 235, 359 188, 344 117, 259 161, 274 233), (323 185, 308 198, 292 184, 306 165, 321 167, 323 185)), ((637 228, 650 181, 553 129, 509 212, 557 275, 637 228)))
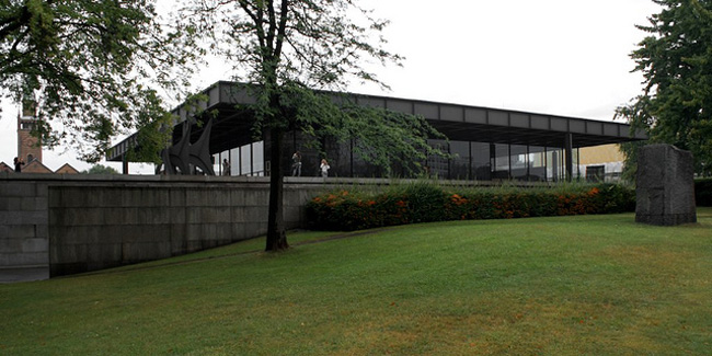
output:
MULTIPOLYGON (((223 159, 230 162, 231 175, 268 175, 274 162, 268 161, 268 142, 255 139, 253 117, 238 104, 250 104, 253 99, 244 84, 220 81, 204 91, 208 100, 199 110, 217 113, 214 116, 209 152, 214 156, 216 174, 220 174, 223 159)), ((507 111, 499 108, 436 103, 398 97, 348 94, 359 105, 422 115, 445 134, 448 140, 430 140, 430 145, 451 153, 450 159, 430 157, 421 162, 432 176, 449 180, 521 180, 559 181, 585 175, 579 161, 579 148, 646 139, 641 131, 631 133, 630 126, 619 123, 549 114, 507 111)), ((177 142, 187 125, 192 125, 191 141, 196 141, 203 128, 196 125, 195 105, 182 105, 173 113, 177 117, 173 143, 177 142)), ((309 149, 300 131, 287 134, 283 164, 286 175, 291 173, 291 154, 300 151, 301 176, 317 176, 324 157, 309 149)), ((135 136, 116 145, 107 154, 110 161, 125 161, 135 136)), ((323 143, 329 160, 330 176, 379 177, 383 172, 365 162, 353 152, 353 142, 323 143)), ((126 170, 125 170, 126 171, 126 170)), ((391 174, 407 177, 403 168, 393 166, 391 174)))

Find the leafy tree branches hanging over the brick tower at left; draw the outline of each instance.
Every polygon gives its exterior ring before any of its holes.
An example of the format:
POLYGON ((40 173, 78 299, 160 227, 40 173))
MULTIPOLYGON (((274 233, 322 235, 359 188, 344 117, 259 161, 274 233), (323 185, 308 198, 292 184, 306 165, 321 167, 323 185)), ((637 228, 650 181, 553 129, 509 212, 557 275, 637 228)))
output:
POLYGON ((37 102, 43 145, 97 161, 114 135, 170 119, 157 89, 190 72, 192 44, 157 22, 153 3, 0 1, 0 94, 37 102))

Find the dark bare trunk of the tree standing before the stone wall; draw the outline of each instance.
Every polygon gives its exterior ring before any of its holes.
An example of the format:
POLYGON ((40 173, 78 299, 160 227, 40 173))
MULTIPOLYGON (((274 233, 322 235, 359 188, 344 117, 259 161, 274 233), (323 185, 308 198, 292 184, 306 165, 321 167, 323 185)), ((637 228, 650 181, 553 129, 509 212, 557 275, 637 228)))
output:
POLYGON ((267 245, 265 251, 280 251, 289 248, 285 232, 283 211, 284 205, 284 171, 282 151, 284 130, 282 128, 268 129, 269 141, 269 210, 267 213, 267 245))

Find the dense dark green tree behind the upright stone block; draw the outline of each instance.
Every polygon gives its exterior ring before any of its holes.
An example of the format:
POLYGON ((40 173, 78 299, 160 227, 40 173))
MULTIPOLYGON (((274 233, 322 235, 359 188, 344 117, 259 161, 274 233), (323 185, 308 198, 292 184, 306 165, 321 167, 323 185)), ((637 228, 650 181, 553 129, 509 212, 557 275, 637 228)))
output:
MULTIPOLYGON (((643 93, 618 108, 651 142, 690 150, 696 172, 712 173, 712 1, 654 0, 650 33, 631 57, 643 73, 643 93)), ((633 150, 629 150, 633 153, 633 150)), ((634 161, 634 160, 631 160, 634 161)))

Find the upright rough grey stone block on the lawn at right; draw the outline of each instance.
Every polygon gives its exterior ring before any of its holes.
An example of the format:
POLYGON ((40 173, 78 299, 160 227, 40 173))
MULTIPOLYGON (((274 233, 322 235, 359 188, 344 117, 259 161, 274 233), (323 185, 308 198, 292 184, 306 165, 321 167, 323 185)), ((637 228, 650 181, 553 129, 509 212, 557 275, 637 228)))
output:
POLYGON ((659 226, 697 222, 692 153, 651 145, 638 153, 635 221, 659 226))

